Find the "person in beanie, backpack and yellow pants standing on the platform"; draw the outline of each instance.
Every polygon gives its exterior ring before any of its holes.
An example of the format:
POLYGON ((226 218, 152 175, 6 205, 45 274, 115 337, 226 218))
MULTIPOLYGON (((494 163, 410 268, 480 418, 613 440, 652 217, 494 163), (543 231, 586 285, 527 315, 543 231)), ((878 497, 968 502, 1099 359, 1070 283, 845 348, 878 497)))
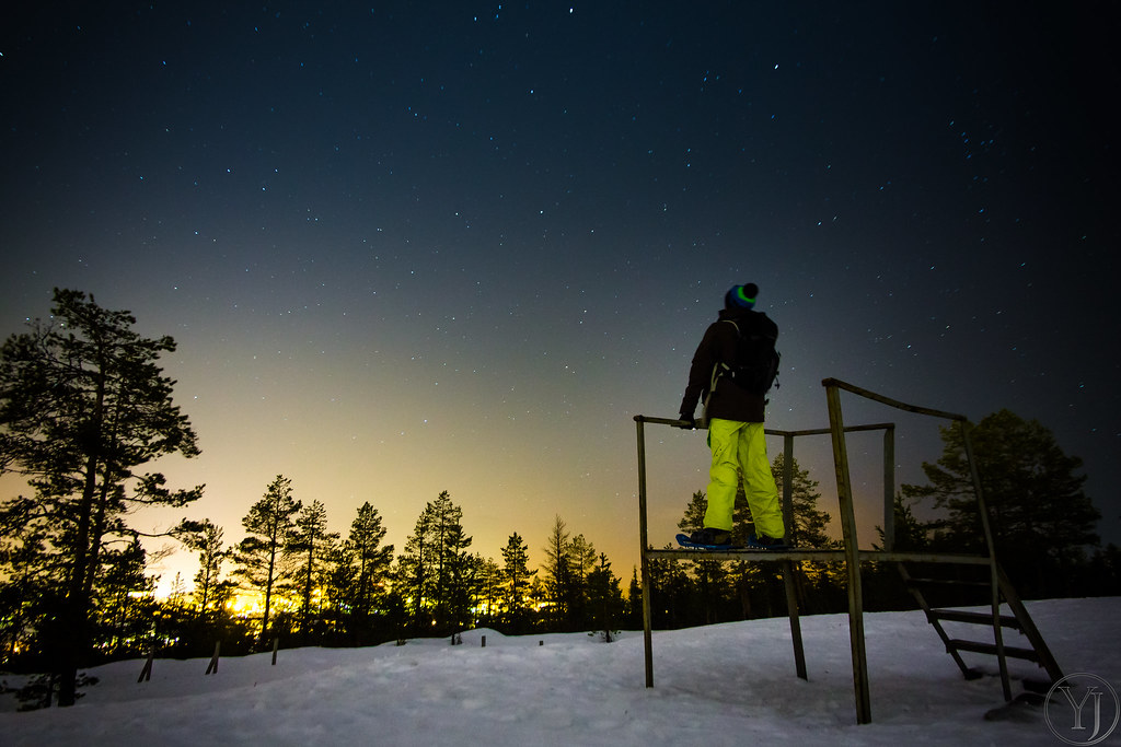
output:
POLYGON ((695 428, 693 413, 704 399, 703 418, 712 448, 704 527, 689 536, 695 544, 732 547, 732 508, 742 474, 756 525, 748 544, 788 547, 763 435, 766 394, 778 371, 778 325, 754 310, 758 293, 754 283, 733 286, 725 293, 724 308, 693 355, 678 410, 680 427, 695 428))

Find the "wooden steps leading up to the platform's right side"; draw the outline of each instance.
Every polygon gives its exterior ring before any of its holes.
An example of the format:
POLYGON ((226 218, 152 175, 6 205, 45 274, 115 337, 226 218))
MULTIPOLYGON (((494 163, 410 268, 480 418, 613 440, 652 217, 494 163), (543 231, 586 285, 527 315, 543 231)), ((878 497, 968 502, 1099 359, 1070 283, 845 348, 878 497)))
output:
MULTIPOLYGON (((1036 683, 1025 681, 1025 685, 1031 690, 1049 689, 1050 685, 1063 679, 1063 671, 1051 655, 1047 643, 1040 635, 1039 629, 1031 620, 1027 608, 1020 600, 1019 595, 1012 587, 1011 581, 999 564, 992 566, 990 580, 970 580, 961 578, 916 578, 912 577, 906 563, 897 563, 899 573, 907 585, 907 589, 915 597, 919 607, 926 613, 926 619, 934 626, 946 646, 946 652, 953 657, 954 663, 962 670, 962 674, 967 680, 982 676, 982 673, 966 665, 961 652, 976 654, 988 654, 995 656, 1000 667, 1001 685, 1004 690, 1004 700, 1012 700, 1011 681, 1008 674, 1008 659, 1021 659, 1035 662, 1047 673, 1048 682, 1036 683), (995 589, 993 586, 995 585, 995 589), (975 589, 985 592, 992 600, 992 611, 969 611, 962 609, 951 609, 935 607, 929 601, 929 596, 936 594, 935 589, 962 591, 964 589, 975 589), (1010 614, 1001 614, 1001 605, 1006 606, 1010 614), (992 641, 972 641, 951 637, 943 623, 965 623, 978 625, 992 631, 992 641), (1026 645, 1011 646, 1004 643, 1004 631, 1015 631, 1025 639, 1026 645)), ((982 566, 981 568, 986 568, 982 566)))

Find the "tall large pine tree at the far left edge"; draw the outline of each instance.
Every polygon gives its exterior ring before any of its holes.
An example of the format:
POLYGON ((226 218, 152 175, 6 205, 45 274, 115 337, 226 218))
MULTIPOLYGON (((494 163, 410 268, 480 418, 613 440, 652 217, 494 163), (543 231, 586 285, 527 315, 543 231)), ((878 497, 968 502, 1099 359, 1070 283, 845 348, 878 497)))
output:
POLYGON ((35 525, 58 555, 63 598, 44 635, 55 653, 58 703, 72 706, 78 665, 91 654, 94 588, 102 552, 138 533, 138 506, 180 507, 202 487, 169 491, 138 467, 163 456, 198 454, 195 433, 172 401, 175 382, 157 366, 170 337, 137 334, 128 311, 99 307, 75 290, 54 291, 49 323, 12 335, 0 349, 0 474, 29 480, 35 496, 0 505, 6 536, 35 525))

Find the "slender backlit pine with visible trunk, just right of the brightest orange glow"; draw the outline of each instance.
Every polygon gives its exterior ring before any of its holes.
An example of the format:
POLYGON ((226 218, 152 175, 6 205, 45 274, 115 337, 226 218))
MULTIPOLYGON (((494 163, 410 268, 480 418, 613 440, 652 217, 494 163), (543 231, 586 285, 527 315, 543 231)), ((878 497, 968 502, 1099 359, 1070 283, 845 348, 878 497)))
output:
POLYGON ((237 576, 265 597, 262 643, 269 637, 274 592, 277 583, 287 577, 285 544, 294 525, 293 516, 302 507, 303 503, 291 496, 291 480, 277 475, 263 497, 250 506, 249 513, 241 520, 249 536, 238 543, 237 576))

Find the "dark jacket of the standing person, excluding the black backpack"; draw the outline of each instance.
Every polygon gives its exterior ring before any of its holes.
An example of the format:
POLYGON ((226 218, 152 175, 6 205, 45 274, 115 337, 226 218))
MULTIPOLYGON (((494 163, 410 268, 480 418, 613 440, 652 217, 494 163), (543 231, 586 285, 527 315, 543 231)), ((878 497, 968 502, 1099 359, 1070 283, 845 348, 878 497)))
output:
MULTIPOLYGON (((713 371, 717 364, 732 365, 735 362, 735 348, 740 332, 756 332, 770 337, 778 337, 778 325, 771 321, 762 311, 723 309, 720 320, 714 321, 705 330, 704 338, 693 354, 693 365, 689 367, 689 383, 682 398, 678 410, 682 420, 693 418, 697 401, 708 396, 713 371), (735 325, 729 324, 729 320, 735 325), (739 326, 740 330, 736 330, 739 326)), ((739 420, 741 422, 763 422, 763 411, 767 400, 762 394, 752 394, 739 386, 728 376, 722 376, 716 383, 716 391, 708 400, 705 418, 739 420)))

